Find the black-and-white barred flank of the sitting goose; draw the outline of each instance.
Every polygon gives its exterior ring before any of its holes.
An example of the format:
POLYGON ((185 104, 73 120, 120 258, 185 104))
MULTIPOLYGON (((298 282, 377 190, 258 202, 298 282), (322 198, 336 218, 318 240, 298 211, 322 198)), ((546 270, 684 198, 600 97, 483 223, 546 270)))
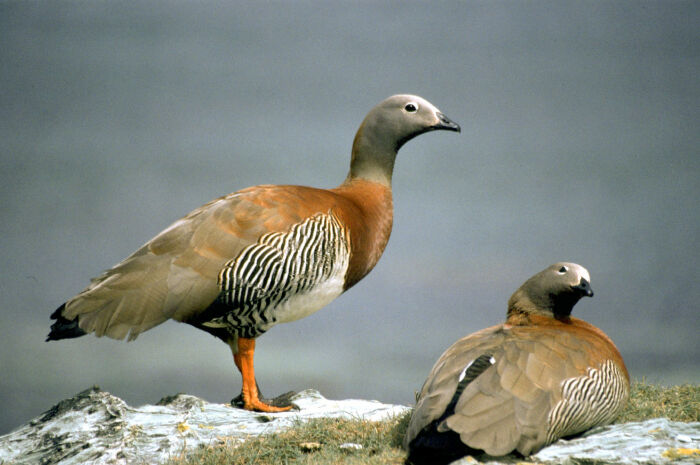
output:
POLYGON ((608 360, 599 369, 562 383, 562 400, 549 413, 547 444, 559 437, 612 422, 624 407, 629 392, 625 377, 608 360))

